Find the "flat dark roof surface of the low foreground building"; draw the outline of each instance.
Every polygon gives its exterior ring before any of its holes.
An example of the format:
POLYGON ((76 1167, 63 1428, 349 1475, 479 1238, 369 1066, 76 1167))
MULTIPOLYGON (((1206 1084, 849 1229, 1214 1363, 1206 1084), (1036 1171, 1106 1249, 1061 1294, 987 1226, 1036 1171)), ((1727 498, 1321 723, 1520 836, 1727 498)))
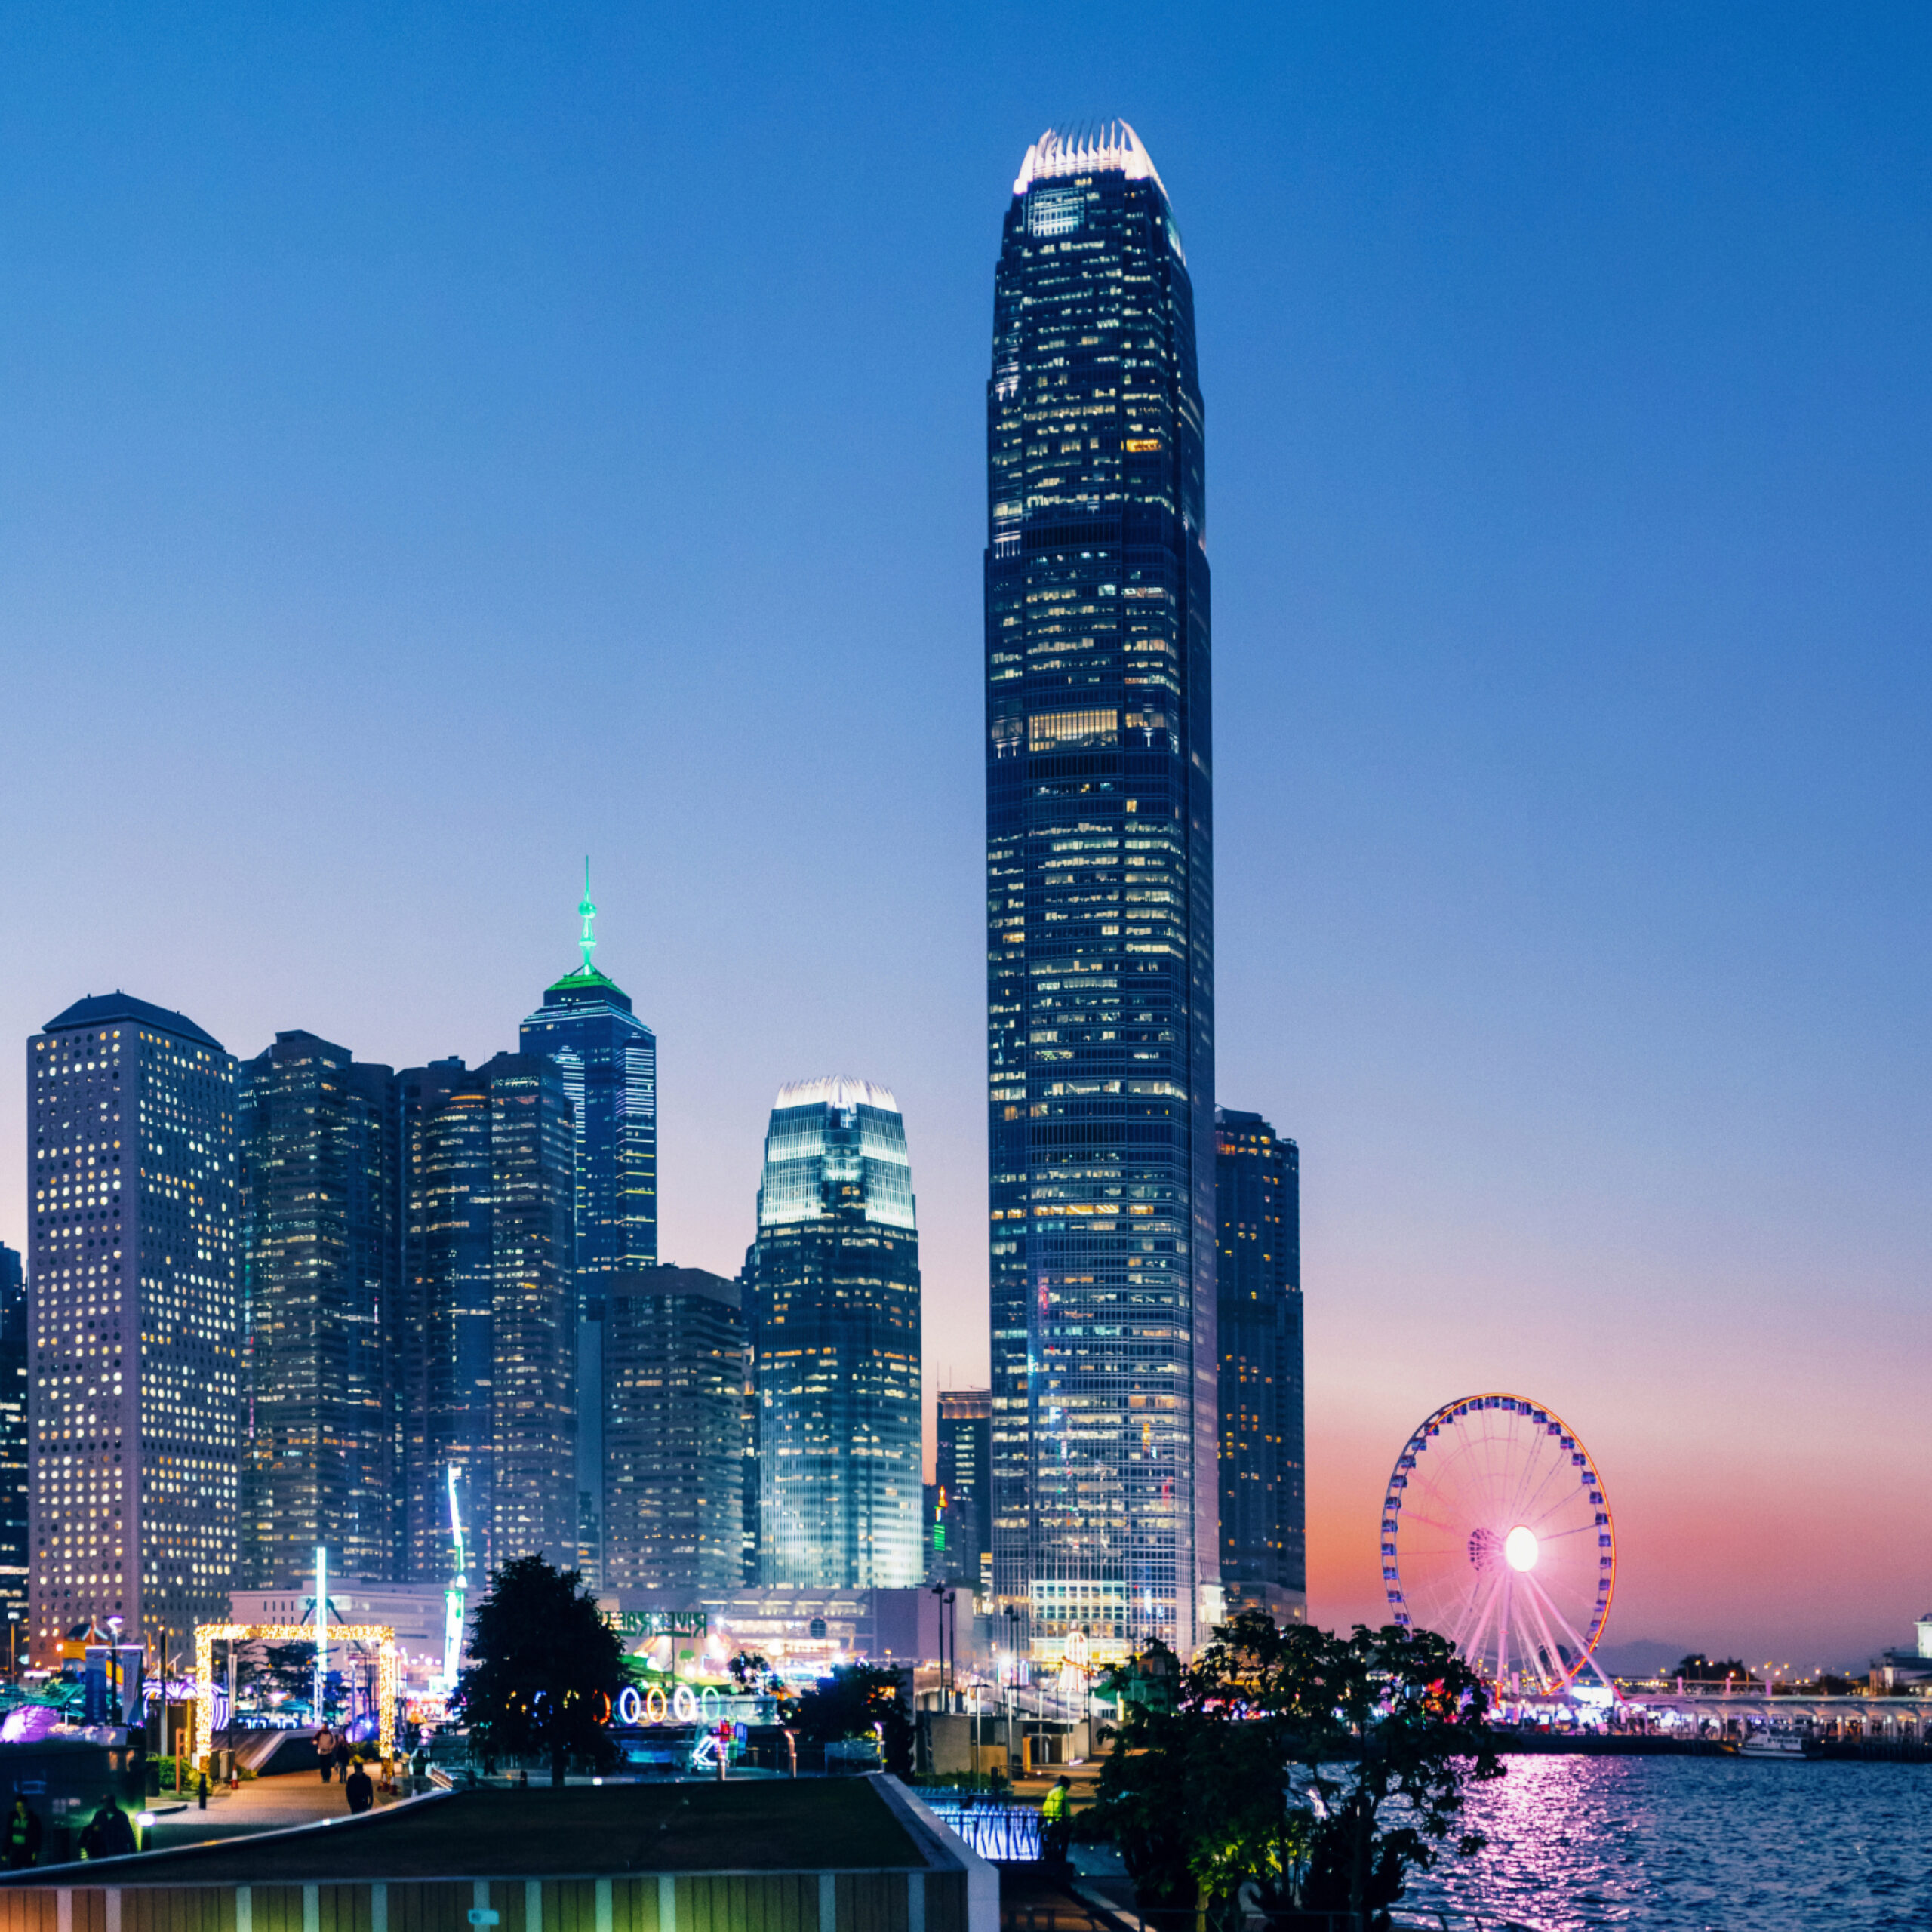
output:
MULTIPOLYGON (((89 1884, 253 1886, 960 1868, 883 1777, 456 1791, 361 1818, 89 1864, 89 1884)), ((0 1876, 0 1889, 48 1872, 0 1876)))

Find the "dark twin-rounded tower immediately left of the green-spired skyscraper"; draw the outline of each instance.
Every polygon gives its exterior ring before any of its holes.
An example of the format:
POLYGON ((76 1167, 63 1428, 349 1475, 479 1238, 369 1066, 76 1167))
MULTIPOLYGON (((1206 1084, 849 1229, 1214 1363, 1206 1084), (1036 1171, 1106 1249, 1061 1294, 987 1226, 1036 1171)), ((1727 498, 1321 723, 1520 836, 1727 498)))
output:
POLYGON ((450 1575, 450 1472, 471 1575, 576 1561, 576 1122, 556 1066, 498 1053, 398 1076, 406 1142, 408 1567, 450 1575))

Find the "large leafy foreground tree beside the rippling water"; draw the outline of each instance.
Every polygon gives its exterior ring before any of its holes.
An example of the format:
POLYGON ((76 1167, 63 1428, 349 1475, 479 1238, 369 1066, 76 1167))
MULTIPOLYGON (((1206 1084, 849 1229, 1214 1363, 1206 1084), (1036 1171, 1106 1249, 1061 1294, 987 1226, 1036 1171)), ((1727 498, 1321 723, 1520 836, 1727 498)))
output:
MULTIPOLYGON (((1150 1905, 1256 1880, 1366 1932, 1434 1864, 1464 1781, 1503 1774, 1486 1712, 1482 1679, 1434 1633, 1343 1638, 1250 1611, 1180 1673, 1173 1708, 1126 1706, 1080 1830, 1121 1847, 1150 1905)), ((1461 1833, 1461 1851, 1480 1847, 1461 1833)))

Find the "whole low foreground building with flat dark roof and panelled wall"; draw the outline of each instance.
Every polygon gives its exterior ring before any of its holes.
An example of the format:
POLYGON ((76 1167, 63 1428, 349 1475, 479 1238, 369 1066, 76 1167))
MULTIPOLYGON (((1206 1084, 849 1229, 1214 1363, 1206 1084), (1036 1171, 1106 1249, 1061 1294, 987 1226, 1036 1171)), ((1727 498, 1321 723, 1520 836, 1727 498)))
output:
POLYGON ((458 1791, 0 1876, 0 1932, 999 1932, 891 1777, 458 1791))

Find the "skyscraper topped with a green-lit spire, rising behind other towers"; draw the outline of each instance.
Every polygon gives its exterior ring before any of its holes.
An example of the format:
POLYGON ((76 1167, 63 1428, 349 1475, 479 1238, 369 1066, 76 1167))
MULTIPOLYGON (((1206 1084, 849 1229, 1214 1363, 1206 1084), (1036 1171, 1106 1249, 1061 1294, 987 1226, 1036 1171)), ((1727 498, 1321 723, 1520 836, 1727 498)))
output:
POLYGON ((583 964, 545 989, 520 1045, 556 1061, 578 1121, 578 1565, 595 1586, 603 1578, 603 1283, 616 1269, 657 1262, 657 1037, 630 1010, 630 995, 591 964, 589 862, 578 916, 583 964))

